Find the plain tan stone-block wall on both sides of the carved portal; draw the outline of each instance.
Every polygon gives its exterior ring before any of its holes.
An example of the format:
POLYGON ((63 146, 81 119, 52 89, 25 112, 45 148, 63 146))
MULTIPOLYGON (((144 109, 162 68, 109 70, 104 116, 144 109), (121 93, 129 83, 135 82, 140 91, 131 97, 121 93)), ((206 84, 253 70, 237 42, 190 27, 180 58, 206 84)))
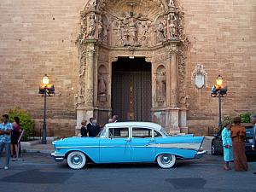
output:
MULTIPOLYGON (((74 132, 78 92, 80 15, 86 0, 3 0, 0 4, 0 111, 25 108, 42 127, 44 99, 38 86, 44 73, 55 84, 47 98, 48 135, 74 132)), ((186 66, 189 132, 207 134, 218 125, 218 99, 210 96, 221 74, 228 85, 224 115, 256 111, 256 16, 253 0, 179 0, 189 41, 186 66), (207 72, 207 86, 198 90, 191 73, 196 64, 207 72), (203 131, 202 131, 203 130, 203 131)))

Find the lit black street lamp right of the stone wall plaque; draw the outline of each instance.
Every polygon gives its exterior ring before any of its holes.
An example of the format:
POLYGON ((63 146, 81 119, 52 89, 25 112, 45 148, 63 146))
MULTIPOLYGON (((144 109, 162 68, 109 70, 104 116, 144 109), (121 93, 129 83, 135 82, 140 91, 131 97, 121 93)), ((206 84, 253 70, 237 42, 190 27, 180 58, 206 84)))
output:
POLYGON ((221 130, 221 97, 227 96, 228 87, 224 86, 223 78, 218 75, 216 84, 213 85, 211 96, 218 97, 218 130, 221 130))

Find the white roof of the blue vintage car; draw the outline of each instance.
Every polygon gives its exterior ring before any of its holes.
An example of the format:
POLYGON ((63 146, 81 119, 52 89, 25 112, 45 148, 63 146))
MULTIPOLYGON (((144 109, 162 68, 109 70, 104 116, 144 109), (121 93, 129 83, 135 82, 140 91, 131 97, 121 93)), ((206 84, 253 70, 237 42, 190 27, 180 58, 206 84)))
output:
POLYGON ((162 128, 161 125, 151 123, 151 122, 141 122, 141 121, 127 121, 127 122, 116 122, 116 123, 108 123, 105 125, 107 128, 109 127, 127 127, 127 126, 139 126, 139 127, 148 127, 153 128, 156 131, 160 131, 162 128))

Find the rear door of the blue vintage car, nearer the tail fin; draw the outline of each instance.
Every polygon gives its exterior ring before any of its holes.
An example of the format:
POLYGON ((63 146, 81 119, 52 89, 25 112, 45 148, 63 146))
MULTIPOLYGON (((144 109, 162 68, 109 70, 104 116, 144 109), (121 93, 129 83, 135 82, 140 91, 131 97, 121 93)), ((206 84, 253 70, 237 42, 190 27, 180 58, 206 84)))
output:
POLYGON ((151 162, 155 158, 154 137, 152 129, 132 127, 131 160, 133 162, 151 162))

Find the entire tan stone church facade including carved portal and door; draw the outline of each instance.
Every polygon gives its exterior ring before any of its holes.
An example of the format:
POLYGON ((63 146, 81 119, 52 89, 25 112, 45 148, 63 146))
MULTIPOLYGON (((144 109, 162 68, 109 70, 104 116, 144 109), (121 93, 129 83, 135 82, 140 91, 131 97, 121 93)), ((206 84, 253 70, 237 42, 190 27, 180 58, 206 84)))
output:
POLYGON ((113 114, 170 133, 207 134, 218 126, 218 100, 210 96, 218 74, 229 89, 224 115, 256 111, 252 4, 5 1, 1 108, 25 108, 40 131, 44 101, 37 91, 47 73, 56 91, 47 99, 50 136, 79 134, 83 119, 104 125, 113 114))

